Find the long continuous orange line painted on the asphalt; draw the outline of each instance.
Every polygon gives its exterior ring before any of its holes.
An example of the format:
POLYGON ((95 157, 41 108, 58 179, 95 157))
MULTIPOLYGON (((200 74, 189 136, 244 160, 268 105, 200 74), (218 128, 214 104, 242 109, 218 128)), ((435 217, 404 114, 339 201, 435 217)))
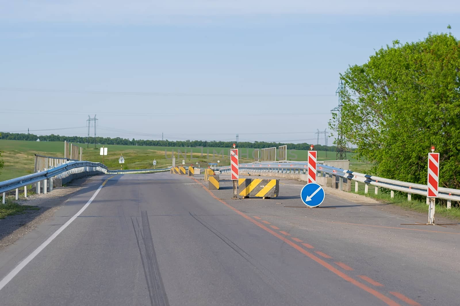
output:
POLYGON ((355 286, 357 286, 358 288, 360 289, 363 289, 364 291, 366 291, 367 293, 371 294, 371 295, 374 295, 376 298, 378 298, 379 300, 383 301, 386 305, 388 306, 401 306, 400 304, 398 304, 397 302, 395 302, 394 300, 391 300, 389 297, 383 295, 382 293, 380 293, 379 291, 375 290, 375 289, 372 289, 368 286, 366 286, 365 284, 362 284, 360 282, 358 282, 356 279, 354 278, 351 278, 350 276, 348 276, 347 274, 343 273, 342 271, 340 271, 339 269, 333 267, 331 264, 327 263, 326 261, 323 261, 321 258, 319 258, 318 256, 315 256, 313 255, 312 253, 308 252, 307 250, 301 248, 299 245, 293 243, 291 240, 283 237, 282 235, 272 231, 270 228, 267 228, 264 224, 254 220, 253 218, 249 217, 247 214, 245 214, 244 212, 242 211, 239 211, 237 210, 235 207, 231 206, 230 204, 228 204, 227 202, 225 202, 224 200, 221 200, 219 199, 217 196, 215 196, 209 189, 206 188, 205 185, 203 185, 200 181, 196 180, 196 179, 193 179, 194 181, 196 181, 196 183, 200 184, 201 187, 203 189, 205 189, 215 200, 218 200, 219 202, 221 202, 222 204, 224 204, 225 206, 227 206, 228 208, 230 208, 231 210, 235 211, 238 215, 242 216, 243 218, 247 219, 248 221, 252 222, 253 224, 257 225, 259 228, 262 228, 263 230, 265 230, 266 232, 272 234, 273 236, 275 236, 276 238, 282 240, 284 243, 286 243, 287 245, 290 245, 292 246, 294 249, 298 250, 300 253, 304 254, 305 256, 311 258, 312 260, 316 261, 317 263, 319 263, 320 265, 322 265, 323 267, 325 267, 326 269, 328 269, 329 271, 331 271, 332 273, 336 274, 337 276, 339 276, 340 278, 343 278, 345 279, 347 282, 350 282, 351 284, 354 284, 355 286))

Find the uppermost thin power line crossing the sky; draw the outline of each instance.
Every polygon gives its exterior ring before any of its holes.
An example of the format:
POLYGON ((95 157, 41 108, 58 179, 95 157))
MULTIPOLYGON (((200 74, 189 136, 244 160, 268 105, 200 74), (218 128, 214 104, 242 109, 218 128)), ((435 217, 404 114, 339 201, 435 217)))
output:
POLYGON ((154 96, 192 96, 192 97, 331 97, 332 95, 288 95, 288 94, 210 94, 210 93, 160 93, 160 92, 134 92, 134 91, 102 91, 102 90, 66 90, 66 89, 36 89, 0 87, 0 90, 22 92, 52 92, 66 94, 97 94, 97 95, 154 95, 154 96))

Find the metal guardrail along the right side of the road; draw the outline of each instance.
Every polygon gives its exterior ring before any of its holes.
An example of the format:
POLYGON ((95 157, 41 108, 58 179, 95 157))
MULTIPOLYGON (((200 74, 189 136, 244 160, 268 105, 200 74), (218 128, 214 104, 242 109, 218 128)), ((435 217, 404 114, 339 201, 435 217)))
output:
MULTIPOLYGON (((251 164, 240 164, 240 172, 251 171, 251 172, 274 172, 274 173, 291 173, 291 174, 306 174, 308 164, 307 162, 260 162, 251 164)), ((220 172, 230 172, 230 166, 220 167, 220 172)), ((427 185, 408 183, 388 178, 380 178, 373 175, 367 175, 359 172, 353 172, 351 170, 345 170, 336 167, 330 167, 318 164, 316 172, 328 174, 338 178, 345 178, 347 180, 355 181, 355 191, 357 191, 357 184, 366 184, 365 193, 368 193, 368 185, 376 187, 386 188, 390 190, 401 191, 410 195, 427 195, 427 185)), ((438 198, 447 200, 447 207, 450 208, 451 201, 460 202, 460 190, 439 187, 438 198)))

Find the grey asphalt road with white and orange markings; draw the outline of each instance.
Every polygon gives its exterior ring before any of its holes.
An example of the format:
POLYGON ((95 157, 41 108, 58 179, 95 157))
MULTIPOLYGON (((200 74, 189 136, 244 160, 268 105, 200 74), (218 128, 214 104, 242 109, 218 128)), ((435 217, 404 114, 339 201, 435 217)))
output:
POLYGON ((230 200, 230 182, 108 178, 3 251, 0 305, 460 305, 457 228, 330 195, 282 207, 296 183, 230 200))

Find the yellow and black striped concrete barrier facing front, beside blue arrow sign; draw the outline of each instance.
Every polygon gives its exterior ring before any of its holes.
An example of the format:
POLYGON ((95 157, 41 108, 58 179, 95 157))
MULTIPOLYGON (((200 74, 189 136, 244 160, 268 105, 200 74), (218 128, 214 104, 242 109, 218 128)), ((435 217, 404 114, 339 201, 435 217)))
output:
POLYGON ((275 198, 280 192, 278 179, 240 178, 238 180, 239 195, 243 198, 250 196, 275 198))

